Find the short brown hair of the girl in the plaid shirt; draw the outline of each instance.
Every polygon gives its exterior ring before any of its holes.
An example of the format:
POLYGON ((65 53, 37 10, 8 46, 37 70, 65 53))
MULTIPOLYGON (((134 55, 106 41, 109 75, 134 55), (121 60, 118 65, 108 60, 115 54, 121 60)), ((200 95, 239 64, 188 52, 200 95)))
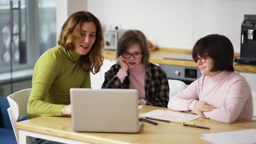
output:
POLYGON ((131 45, 139 44, 142 51, 141 63, 147 67, 149 63, 149 48, 146 36, 139 30, 128 30, 121 35, 118 41, 117 58, 123 54, 131 45))

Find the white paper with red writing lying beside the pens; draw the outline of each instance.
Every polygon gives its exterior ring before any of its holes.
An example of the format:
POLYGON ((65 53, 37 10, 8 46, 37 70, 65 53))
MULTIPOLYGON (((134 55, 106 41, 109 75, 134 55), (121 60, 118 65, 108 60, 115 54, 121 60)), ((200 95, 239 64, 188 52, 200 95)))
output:
POLYGON ((165 110, 154 110, 154 111, 144 113, 140 116, 165 119, 169 121, 192 121, 200 117, 199 115, 193 115, 190 113, 165 111, 165 110))

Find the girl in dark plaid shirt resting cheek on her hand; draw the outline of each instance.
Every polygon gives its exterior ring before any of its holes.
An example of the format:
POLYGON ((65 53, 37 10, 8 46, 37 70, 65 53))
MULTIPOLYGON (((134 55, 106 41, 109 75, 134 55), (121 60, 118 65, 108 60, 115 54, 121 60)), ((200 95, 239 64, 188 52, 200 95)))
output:
POLYGON ((148 40, 141 31, 129 30, 121 36, 117 57, 117 64, 105 73, 102 88, 137 89, 138 104, 167 107, 166 73, 149 62, 148 40))

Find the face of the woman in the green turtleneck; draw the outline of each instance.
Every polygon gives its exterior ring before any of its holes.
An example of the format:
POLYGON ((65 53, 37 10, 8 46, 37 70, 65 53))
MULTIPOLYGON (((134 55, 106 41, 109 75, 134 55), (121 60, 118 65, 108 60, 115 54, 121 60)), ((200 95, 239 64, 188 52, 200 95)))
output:
POLYGON ((86 55, 96 39, 96 26, 94 22, 83 22, 80 27, 80 37, 74 40, 74 49, 80 55, 86 55))

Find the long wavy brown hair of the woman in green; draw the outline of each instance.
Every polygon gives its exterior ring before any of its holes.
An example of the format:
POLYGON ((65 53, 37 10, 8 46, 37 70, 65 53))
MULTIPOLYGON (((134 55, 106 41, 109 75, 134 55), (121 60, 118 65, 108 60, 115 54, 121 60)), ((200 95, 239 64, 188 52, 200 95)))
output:
POLYGON ((79 59, 80 66, 86 72, 98 73, 103 64, 102 50, 104 45, 101 23, 88 11, 77 11, 70 15, 63 24, 58 45, 66 50, 74 50, 74 40, 80 37, 80 26, 83 22, 94 22, 96 26, 96 39, 91 50, 79 59))

